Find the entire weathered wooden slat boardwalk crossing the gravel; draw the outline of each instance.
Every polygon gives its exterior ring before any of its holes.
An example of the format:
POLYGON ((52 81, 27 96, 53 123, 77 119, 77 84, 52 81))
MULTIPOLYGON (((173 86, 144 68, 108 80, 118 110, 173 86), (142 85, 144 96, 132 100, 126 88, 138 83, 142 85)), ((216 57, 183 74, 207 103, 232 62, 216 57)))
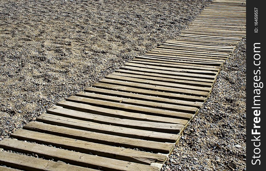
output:
POLYGON ((0 141, 0 170, 160 170, 245 37, 245 1, 216 0, 182 34, 0 141), (42 159, 42 157, 44 159, 42 159))

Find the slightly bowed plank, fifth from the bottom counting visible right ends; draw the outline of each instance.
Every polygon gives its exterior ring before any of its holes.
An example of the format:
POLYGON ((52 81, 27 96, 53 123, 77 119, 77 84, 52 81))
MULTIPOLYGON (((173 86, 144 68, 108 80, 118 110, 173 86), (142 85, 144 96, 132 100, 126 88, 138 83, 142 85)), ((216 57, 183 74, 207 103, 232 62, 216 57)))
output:
MULTIPOLYGON (((83 92, 83 93, 86 93, 86 92, 83 92)), ((88 93, 86 93, 86 94, 88 94, 88 93)), ((91 94, 94 94, 94 93, 91 93, 91 94)), ((86 96, 86 97, 88 97, 88 96, 86 96)), ((105 124, 105 125, 114 125, 114 126, 121 126, 121 127, 126 127, 126 128, 134 128, 134 129, 156 131, 156 132, 166 132, 166 133, 177 132, 177 133, 179 133, 180 130, 182 130, 182 128, 183 128, 183 125, 181 125, 181 124, 157 123, 157 122, 136 121, 136 120, 134 120, 134 122, 132 122, 132 120, 130 120, 130 119, 120 119, 120 118, 115 118, 115 117, 96 115, 96 114, 92 114, 92 113, 88 114, 86 112, 75 111, 75 110, 71 110, 71 109, 65 109, 65 108, 62 108, 59 106, 54 106, 54 107, 48 109, 47 113, 51 113, 53 115, 69 117, 69 118, 80 119, 80 120, 84 120, 84 121, 90 121, 90 122, 94 122, 94 123, 101 123, 101 124, 105 124)))

